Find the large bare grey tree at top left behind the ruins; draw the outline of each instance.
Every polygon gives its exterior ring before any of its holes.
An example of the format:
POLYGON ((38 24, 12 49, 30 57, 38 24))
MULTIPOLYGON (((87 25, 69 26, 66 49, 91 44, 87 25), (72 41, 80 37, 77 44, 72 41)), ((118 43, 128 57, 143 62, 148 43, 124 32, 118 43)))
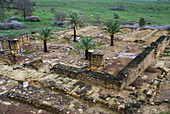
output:
POLYGON ((24 19, 31 16, 34 10, 33 3, 30 0, 16 0, 13 6, 22 13, 24 19))

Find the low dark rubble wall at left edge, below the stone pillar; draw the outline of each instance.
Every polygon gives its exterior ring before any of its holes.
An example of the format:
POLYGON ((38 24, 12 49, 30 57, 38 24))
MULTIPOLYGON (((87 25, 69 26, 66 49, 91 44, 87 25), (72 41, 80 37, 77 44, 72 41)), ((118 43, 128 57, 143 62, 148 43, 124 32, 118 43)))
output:
POLYGON ((14 54, 6 51, 0 51, 0 60, 7 62, 8 64, 15 64, 17 61, 16 56, 14 54))

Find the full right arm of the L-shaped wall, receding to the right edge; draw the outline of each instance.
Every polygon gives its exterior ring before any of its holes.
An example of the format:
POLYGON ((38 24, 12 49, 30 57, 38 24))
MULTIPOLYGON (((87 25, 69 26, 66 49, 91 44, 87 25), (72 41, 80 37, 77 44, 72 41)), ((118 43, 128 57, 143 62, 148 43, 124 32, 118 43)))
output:
MULTIPOLYGON (((161 36, 156 42, 151 43, 151 47, 146 48, 141 54, 133 59, 126 67, 124 67, 116 77, 124 85, 130 85, 136 78, 150 66, 169 45, 169 36, 161 36)), ((122 88, 120 88, 122 89, 122 88)))

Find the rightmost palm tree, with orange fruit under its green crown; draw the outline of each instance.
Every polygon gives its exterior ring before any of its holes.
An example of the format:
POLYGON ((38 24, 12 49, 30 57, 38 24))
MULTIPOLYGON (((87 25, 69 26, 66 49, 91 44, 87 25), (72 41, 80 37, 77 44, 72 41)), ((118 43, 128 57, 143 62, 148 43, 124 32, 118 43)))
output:
POLYGON ((106 28, 104 28, 104 30, 105 30, 105 32, 109 33, 110 36, 111 36, 111 44, 110 44, 110 46, 114 46, 114 44, 113 44, 114 34, 116 34, 118 32, 123 33, 122 31, 120 31, 120 29, 122 29, 122 28, 120 27, 118 21, 116 21, 116 22, 108 21, 106 23, 106 28))

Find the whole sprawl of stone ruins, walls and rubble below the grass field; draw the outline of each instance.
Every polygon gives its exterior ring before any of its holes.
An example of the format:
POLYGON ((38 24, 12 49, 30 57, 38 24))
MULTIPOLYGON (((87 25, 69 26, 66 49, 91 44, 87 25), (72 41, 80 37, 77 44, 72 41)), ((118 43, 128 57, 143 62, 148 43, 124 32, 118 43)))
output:
POLYGON ((97 39, 88 60, 75 48, 70 30, 54 33, 58 40, 48 42, 47 53, 42 42, 34 42, 35 34, 1 38, 0 86, 5 89, 0 95, 10 105, 15 101, 61 114, 136 114, 170 103, 170 94, 161 96, 170 81, 168 31, 123 28, 113 47, 101 31, 98 26, 77 30, 78 39, 97 39))

